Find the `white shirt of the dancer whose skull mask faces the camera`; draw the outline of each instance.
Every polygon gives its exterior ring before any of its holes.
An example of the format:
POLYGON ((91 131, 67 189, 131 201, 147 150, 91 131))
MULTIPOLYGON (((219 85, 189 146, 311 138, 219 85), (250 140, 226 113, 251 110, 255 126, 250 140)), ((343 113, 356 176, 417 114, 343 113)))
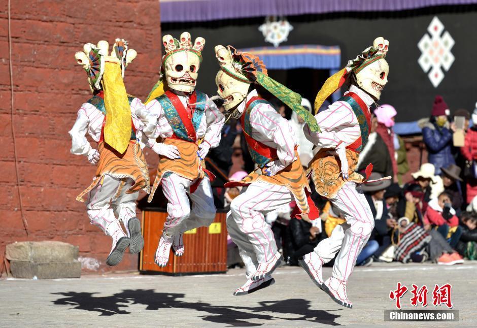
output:
MULTIPOLYGON (((179 94, 177 96, 182 105, 184 105, 184 108, 187 108, 189 97, 179 94)), ((212 148, 215 148, 219 145, 222 136, 221 131, 225 123, 225 116, 219 111, 214 102, 209 99, 209 96, 206 96, 206 99, 206 109, 195 133, 197 140, 204 138, 204 141, 207 141, 212 148)), ((167 121, 161 104, 154 99, 146 105, 146 109, 156 118, 156 132, 154 134, 154 139, 157 137, 172 137, 173 129, 171 124, 167 121)), ((151 147, 150 144, 148 146, 151 147)))

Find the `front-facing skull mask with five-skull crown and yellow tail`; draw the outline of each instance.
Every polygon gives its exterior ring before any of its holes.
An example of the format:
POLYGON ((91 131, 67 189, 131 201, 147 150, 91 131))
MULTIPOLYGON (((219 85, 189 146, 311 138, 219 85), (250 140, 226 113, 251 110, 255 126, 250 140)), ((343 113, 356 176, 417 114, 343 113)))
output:
POLYGON ((189 32, 183 32, 180 40, 171 35, 163 36, 162 44, 164 45, 164 55, 160 70, 161 76, 149 93, 145 104, 161 96, 169 88, 184 92, 194 91, 206 40, 199 37, 192 44, 189 32), (193 54, 193 56, 189 57, 188 54, 193 54))

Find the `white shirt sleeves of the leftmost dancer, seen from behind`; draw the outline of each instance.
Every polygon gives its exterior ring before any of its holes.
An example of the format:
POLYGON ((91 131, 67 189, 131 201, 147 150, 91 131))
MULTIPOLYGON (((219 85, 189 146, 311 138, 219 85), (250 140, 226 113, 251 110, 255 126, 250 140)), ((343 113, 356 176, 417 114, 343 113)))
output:
MULTIPOLYGON (((136 129, 136 137, 141 140, 143 132, 146 135, 154 133, 155 117, 151 115, 146 106, 138 98, 134 98, 131 102, 131 117, 136 129)), ((69 134, 72 139, 71 153, 75 155, 88 155, 92 148, 86 139, 86 133, 91 138, 99 142, 101 137, 101 127, 105 115, 90 103, 84 103, 78 110, 78 117, 69 134)))

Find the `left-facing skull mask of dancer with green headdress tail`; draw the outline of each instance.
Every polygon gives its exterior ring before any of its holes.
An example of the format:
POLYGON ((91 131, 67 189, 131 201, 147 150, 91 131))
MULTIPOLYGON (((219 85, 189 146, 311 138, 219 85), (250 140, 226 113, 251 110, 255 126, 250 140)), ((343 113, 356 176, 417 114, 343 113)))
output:
POLYGON ((217 73, 215 83, 218 88, 217 93, 225 101, 223 106, 226 111, 230 111, 244 101, 250 86, 249 83, 238 81, 223 71, 217 73))

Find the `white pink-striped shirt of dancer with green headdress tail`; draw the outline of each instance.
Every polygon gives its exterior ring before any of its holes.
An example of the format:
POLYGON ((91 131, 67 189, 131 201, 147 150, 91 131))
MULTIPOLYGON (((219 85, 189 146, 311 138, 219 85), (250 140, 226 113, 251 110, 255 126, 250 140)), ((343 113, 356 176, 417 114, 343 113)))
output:
MULTIPOLYGON (((245 101, 238 105, 237 110, 243 113, 247 102, 257 96, 256 90, 247 95, 245 101)), ((277 156, 284 166, 290 165, 295 159, 295 134, 288 120, 269 104, 258 104, 250 111, 250 137, 261 143, 277 149, 277 156)))

